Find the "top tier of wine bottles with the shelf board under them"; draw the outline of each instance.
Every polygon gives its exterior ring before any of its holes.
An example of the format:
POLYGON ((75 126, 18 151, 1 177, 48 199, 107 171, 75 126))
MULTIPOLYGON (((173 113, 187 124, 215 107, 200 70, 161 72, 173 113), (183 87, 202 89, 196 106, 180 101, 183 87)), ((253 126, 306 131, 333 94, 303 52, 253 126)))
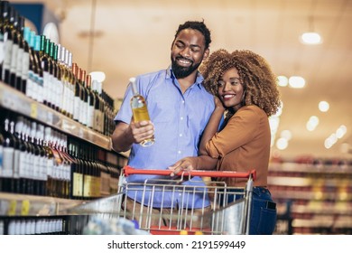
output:
POLYGON ((115 128, 114 102, 102 83, 79 68, 63 45, 25 27, 8 1, 0 2, 0 81, 3 107, 110 148, 106 142, 115 128))

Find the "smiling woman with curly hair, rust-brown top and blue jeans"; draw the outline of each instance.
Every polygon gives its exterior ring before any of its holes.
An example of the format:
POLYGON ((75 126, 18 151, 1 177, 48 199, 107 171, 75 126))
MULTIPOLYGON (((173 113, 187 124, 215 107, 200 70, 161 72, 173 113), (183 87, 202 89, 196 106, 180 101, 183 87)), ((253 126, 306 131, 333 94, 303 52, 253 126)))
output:
MULTIPOLYGON (((198 157, 186 157, 170 168, 247 172, 256 170, 250 234, 272 234, 276 207, 267 188, 271 131, 268 117, 281 101, 276 78, 263 57, 251 51, 213 52, 200 67, 204 86, 217 107, 208 122, 198 157), (219 130, 219 123, 224 116, 219 130), (212 158, 212 160, 209 159, 212 158)), ((243 187, 246 179, 219 178, 227 186, 243 187)))

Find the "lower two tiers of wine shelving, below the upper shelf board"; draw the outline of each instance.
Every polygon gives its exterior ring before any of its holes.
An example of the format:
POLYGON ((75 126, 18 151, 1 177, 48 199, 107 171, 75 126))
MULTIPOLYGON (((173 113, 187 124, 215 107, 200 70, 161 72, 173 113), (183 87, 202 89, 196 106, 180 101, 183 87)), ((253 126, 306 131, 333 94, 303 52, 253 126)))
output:
POLYGON ((87 217, 67 211, 115 194, 126 157, 7 108, 0 115, 0 234, 80 234, 87 217))

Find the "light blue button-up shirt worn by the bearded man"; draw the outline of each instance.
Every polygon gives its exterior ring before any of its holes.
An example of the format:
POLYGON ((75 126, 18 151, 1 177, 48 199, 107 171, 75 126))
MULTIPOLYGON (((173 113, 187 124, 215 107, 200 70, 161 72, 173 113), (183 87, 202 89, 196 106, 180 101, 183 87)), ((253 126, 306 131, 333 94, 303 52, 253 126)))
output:
MULTIPOLYGON (((168 166, 176 163, 186 156, 197 156, 199 141, 202 132, 207 126, 208 119, 214 110, 214 98, 202 86, 203 78, 200 74, 196 82, 187 89, 184 94, 181 86, 174 78, 171 67, 167 70, 159 70, 136 77, 139 93, 144 96, 149 115, 154 124, 155 143, 149 147, 132 145, 128 164, 138 169, 168 169, 168 166)), ((130 124, 132 109, 130 99, 132 89, 129 86, 125 92, 124 102, 119 109, 115 121, 122 121, 130 124)), ((126 177, 128 183, 144 183, 146 178, 159 178, 161 176, 130 175, 126 177)), ((170 177, 167 177, 170 179, 170 177)), ((200 181, 201 178, 192 178, 193 181, 200 181)), ((198 183, 197 183, 198 184, 198 183)), ((156 192, 153 196, 153 207, 160 207, 162 192, 156 192)), ((135 198, 131 192, 129 197, 135 198)), ((201 207, 203 195, 193 204, 194 208, 201 207)), ((171 196, 171 192, 163 192, 163 207, 170 207, 174 198, 177 204, 181 203, 181 196, 171 196), (169 196, 166 196, 169 195, 169 196)), ((142 192, 136 195, 136 201, 142 201, 142 192)), ((175 201, 173 204, 175 204, 175 201)), ((208 205, 207 200, 207 205, 208 205)), ((190 203, 189 203, 190 204, 190 203)), ((192 206, 193 207, 193 206, 192 206)))

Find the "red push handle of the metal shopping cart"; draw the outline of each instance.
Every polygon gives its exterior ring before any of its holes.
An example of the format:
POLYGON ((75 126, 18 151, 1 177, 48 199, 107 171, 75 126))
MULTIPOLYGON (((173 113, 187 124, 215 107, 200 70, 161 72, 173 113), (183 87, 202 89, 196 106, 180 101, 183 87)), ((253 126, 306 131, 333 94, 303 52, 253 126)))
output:
MULTIPOLYGON (((144 169, 134 169, 131 166, 124 166, 125 176, 131 174, 153 174, 153 175, 170 175, 170 170, 144 170, 144 169)), ((209 177, 233 177, 233 178, 250 178, 252 177, 253 181, 256 179, 255 170, 250 172, 230 172, 230 171, 190 171, 190 172, 179 172, 176 175, 183 176, 209 176, 209 177)))

